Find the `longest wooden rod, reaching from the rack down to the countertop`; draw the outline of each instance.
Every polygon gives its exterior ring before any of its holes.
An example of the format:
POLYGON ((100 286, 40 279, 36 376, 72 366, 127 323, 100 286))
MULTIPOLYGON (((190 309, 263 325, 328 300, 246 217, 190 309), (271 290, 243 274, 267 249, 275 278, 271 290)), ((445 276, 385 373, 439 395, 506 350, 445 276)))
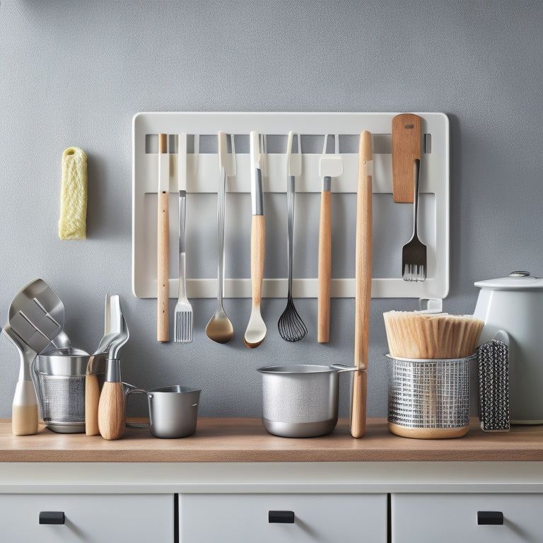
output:
POLYGON ((366 433, 368 349, 370 336, 372 180, 371 134, 360 135, 358 151, 358 192, 356 195, 354 366, 351 397, 351 436, 366 433))

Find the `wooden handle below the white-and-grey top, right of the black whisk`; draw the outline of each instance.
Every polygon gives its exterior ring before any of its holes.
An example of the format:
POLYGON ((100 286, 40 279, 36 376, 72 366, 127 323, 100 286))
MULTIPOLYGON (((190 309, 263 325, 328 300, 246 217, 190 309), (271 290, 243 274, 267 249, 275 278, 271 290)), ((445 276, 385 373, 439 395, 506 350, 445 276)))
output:
POLYGON ((330 281, 332 278, 332 193, 320 194, 319 291, 317 300, 317 341, 327 343, 330 336, 330 281))

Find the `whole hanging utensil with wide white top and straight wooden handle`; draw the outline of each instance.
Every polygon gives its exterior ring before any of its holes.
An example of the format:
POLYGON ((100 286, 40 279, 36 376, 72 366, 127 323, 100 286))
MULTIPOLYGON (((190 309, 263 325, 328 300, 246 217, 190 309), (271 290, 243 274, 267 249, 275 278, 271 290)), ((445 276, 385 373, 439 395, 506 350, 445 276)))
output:
POLYGON ((330 281, 332 279, 332 177, 343 173, 343 160, 339 156, 339 138, 334 136, 335 156, 327 155, 328 134, 319 160, 319 175, 322 177, 320 193, 317 341, 327 343, 330 334, 330 281))

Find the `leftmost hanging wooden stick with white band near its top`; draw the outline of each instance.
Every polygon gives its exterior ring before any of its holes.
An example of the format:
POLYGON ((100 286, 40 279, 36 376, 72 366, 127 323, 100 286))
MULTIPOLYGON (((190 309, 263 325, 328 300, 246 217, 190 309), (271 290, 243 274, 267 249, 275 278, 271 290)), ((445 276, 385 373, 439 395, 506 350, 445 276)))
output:
POLYGON ((168 134, 158 134, 157 341, 169 341, 168 262, 170 260, 170 187, 168 134))

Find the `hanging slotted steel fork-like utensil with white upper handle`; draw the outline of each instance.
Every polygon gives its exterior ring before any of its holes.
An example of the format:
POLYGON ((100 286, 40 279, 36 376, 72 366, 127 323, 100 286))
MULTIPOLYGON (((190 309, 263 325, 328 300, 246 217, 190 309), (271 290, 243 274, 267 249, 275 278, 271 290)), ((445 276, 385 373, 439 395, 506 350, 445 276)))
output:
POLYGON ((177 146, 177 179, 179 180, 179 291, 174 313, 174 341, 192 341, 192 305, 185 284, 185 217, 187 211, 187 134, 179 134, 177 146))

